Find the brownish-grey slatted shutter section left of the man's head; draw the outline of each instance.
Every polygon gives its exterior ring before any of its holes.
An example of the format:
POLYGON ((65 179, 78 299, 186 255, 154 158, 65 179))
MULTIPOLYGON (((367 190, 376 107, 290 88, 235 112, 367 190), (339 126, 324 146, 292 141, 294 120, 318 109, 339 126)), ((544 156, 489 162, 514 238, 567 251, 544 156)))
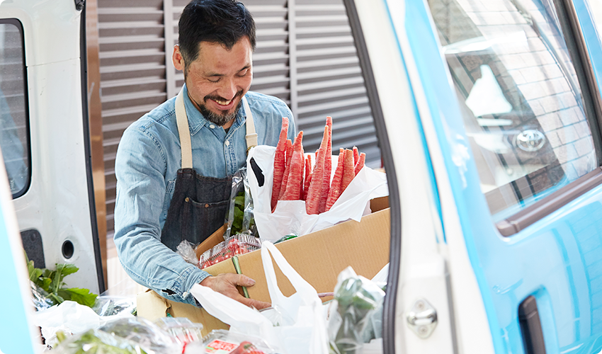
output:
POLYGON ((98 0, 108 238, 113 235, 121 135, 166 99, 163 33, 163 1, 98 0))

